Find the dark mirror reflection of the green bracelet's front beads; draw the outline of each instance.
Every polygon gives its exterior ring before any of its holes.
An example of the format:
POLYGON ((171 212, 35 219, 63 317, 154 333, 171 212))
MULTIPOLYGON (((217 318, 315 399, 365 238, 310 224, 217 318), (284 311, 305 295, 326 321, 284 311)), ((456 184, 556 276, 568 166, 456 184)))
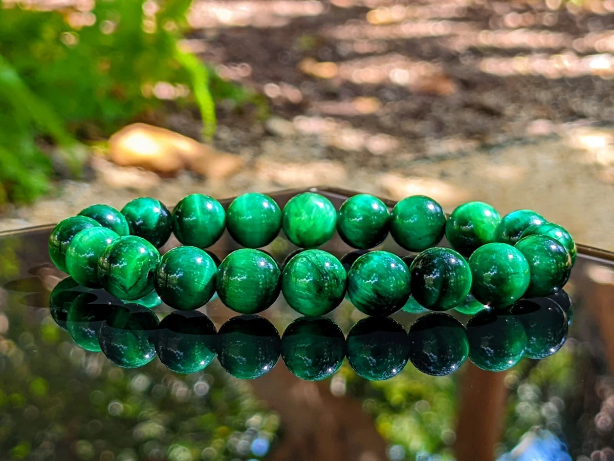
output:
POLYGON ((144 366, 158 356, 174 372, 193 373, 214 358, 232 376, 253 379, 271 371, 281 355, 295 376, 321 380, 344 358, 359 376, 389 379, 410 361, 419 371, 445 376, 467 358, 488 371, 503 371, 522 357, 545 358, 565 342, 573 310, 564 291, 523 299, 509 313, 482 309, 465 327, 447 313, 415 320, 406 332, 390 317, 358 321, 345 337, 326 317, 300 317, 279 337, 273 324, 257 315, 240 315, 219 331, 198 311, 176 311, 160 322, 149 309, 123 304, 104 290, 66 278, 52 291, 50 311, 79 347, 103 352, 124 368, 144 366))

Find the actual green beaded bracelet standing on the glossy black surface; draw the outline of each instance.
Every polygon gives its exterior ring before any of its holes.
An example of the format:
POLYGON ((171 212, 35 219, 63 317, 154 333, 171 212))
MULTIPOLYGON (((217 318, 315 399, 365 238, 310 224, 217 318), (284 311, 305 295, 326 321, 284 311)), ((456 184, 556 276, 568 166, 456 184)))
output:
POLYGON ((281 291, 303 315, 324 315, 347 291, 360 311, 390 315, 410 294, 425 309, 445 311, 470 293, 490 307, 556 293, 569 278, 576 248, 569 232, 530 210, 499 218, 490 205, 468 202, 446 219, 440 205, 423 195, 401 200, 389 213, 381 200, 359 194, 337 213, 324 196, 305 192, 283 212, 271 197, 255 193, 241 195, 228 211, 201 194, 182 199, 172 214, 148 197, 132 200, 121 213, 93 205, 53 229, 49 254, 58 269, 85 286, 103 286, 126 300, 155 288, 180 310, 197 309, 217 291, 230 309, 257 313, 281 291), (234 251, 217 267, 204 248, 225 227, 246 247, 267 245, 281 227, 290 242, 311 249, 296 254, 283 272, 254 248, 234 251), (390 232, 400 246, 419 254, 408 267, 392 253, 372 251, 346 271, 335 256, 313 249, 335 229, 355 248, 379 245, 390 232), (157 248, 172 232, 184 246, 160 256, 157 248), (444 234, 453 249, 433 247, 444 234))

